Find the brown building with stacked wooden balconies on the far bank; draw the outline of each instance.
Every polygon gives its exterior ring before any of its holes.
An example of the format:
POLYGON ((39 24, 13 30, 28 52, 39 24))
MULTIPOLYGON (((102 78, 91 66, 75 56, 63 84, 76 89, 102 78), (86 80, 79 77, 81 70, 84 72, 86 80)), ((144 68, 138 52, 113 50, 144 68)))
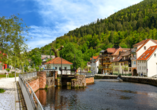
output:
POLYGON ((128 50, 128 49, 123 49, 121 47, 119 48, 108 48, 106 50, 100 51, 100 64, 102 68, 102 74, 106 73, 112 73, 112 62, 119 55, 119 52, 122 50, 128 50))

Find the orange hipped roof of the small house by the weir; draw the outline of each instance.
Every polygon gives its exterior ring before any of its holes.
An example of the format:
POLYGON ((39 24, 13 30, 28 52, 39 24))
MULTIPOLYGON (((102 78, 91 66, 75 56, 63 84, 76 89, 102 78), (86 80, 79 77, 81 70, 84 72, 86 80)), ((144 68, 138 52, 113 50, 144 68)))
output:
MULTIPOLYGON (((54 58, 54 59, 46 62, 45 64, 61 64, 61 58, 60 57, 54 58)), ((71 63, 71 62, 69 62, 69 61, 62 58, 62 64, 72 65, 73 63, 71 63)))

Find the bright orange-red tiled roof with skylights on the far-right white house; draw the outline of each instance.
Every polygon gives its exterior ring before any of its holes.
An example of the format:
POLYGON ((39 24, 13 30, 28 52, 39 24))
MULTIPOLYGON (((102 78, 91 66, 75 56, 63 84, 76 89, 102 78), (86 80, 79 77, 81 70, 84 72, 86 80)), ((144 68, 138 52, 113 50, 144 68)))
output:
POLYGON ((157 45, 149 47, 137 60, 147 60, 156 49, 157 45))

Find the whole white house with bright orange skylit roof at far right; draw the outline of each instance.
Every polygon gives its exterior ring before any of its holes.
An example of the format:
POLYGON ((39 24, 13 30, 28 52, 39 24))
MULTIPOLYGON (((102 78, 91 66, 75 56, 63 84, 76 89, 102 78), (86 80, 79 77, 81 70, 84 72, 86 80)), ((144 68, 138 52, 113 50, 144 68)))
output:
POLYGON ((147 77, 157 75, 157 45, 148 48, 137 59, 137 73, 147 77))

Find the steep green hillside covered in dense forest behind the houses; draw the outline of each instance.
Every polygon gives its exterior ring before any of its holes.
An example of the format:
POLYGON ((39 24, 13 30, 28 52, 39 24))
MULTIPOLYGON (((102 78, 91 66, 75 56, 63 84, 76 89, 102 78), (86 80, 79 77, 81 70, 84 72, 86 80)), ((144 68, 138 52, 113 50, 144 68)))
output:
POLYGON ((77 53, 79 56, 76 57, 82 61, 77 66, 84 67, 90 57, 98 55, 102 49, 129 48, 146 38, 157 39, 157 0, 144 0, 106 19, 69 31, 39 50, 42 54, 49 54, 51 45, 55 48, 64 45, 60 52, 63 58, 74 62, 73 56, 77 53))

